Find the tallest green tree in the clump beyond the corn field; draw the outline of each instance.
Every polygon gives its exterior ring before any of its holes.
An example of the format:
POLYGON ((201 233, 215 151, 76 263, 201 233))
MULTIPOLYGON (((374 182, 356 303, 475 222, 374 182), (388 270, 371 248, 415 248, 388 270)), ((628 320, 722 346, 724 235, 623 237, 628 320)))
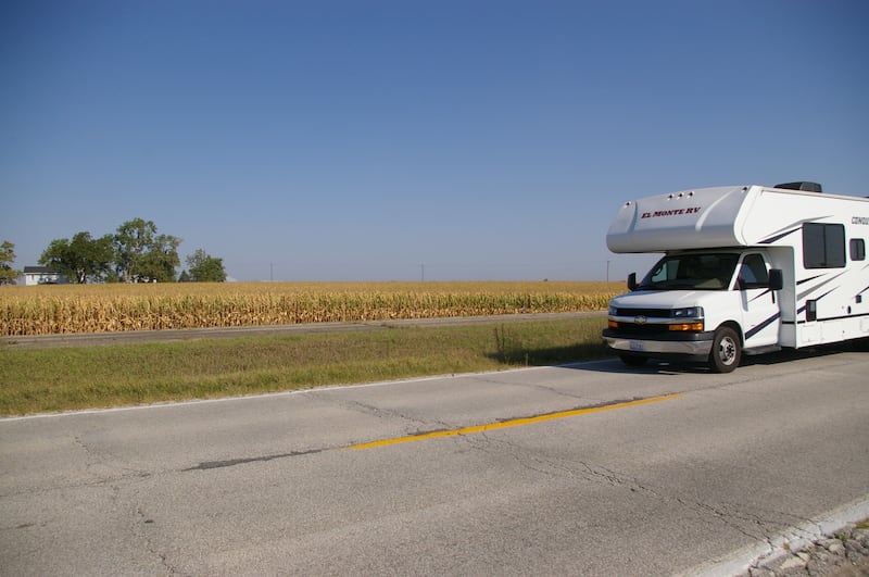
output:
POLYGON ((180 266, 181 239, 158 235, 152 221, 134 218, 117 227, 114 236, 116 271, 124 283, 172 283, 180 266))

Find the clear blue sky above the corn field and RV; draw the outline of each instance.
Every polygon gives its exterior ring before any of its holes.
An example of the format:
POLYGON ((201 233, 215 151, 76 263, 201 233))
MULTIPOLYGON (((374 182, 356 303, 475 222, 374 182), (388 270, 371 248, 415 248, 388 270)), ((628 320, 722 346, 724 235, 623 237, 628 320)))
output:
POLYGON ((869 3, 0 0, 0 241, 240 280, 613 279, 625 200, 869 195, 869 3))

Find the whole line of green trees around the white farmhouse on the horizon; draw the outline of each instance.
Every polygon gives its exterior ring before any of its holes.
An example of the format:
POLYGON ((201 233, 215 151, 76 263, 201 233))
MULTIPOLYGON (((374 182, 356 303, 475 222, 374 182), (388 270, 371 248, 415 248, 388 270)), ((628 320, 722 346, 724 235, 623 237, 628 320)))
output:
MULTIPOLYGON (((176 277, 181 265, 178 246, 181 239, 158 234, 152 221, 134 218, 114 234, 93 238, 89 231, 72 238, 52 240, 42 251, 39 264, 62 274, 71 283, 223 283, 223 259, 197 249, 187 256, 187 269, 176 277)), ((9 285, 22 275, 12 268, 15 246, 0 246, 0 284, 9 285)))

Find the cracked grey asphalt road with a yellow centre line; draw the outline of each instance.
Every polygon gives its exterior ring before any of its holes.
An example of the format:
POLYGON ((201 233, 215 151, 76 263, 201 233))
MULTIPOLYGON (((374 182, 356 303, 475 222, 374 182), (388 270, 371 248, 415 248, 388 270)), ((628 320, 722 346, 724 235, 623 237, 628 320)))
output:
POLYGON ((869 504, 867 374, 604 361, 2 419, 0 574, 733 574, 869 504))

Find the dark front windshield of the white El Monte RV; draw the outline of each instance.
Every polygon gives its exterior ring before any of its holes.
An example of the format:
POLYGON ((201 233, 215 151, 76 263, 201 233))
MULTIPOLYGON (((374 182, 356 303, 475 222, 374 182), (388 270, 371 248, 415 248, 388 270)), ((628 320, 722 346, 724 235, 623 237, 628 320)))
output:
POLYGON ((739 254, 668 254, 652 267, 639 290, 727 290, 739 254))

